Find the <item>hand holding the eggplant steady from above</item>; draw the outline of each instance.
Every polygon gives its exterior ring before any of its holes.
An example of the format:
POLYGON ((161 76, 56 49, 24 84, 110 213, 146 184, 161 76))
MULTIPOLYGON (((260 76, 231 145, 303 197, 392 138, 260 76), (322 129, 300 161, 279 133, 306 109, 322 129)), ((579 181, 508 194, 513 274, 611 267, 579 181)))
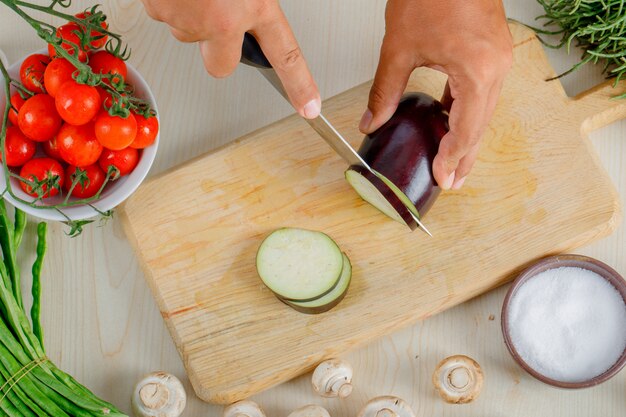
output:
POLYGON ((359 128, 371 133, 396 110, 411 72, 430 67, 448 75, 442 103, 450 131, 433 162, 443 189, 465 182, 512 63, 511 33, 501 0, 389 0, 387 29, 359 128))

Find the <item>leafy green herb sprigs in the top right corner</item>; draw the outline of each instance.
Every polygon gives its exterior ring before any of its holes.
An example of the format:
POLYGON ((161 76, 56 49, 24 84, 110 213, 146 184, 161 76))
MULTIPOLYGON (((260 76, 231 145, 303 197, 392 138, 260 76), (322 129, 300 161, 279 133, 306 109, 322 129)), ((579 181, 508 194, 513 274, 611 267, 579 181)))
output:
MULTIPOLYGON (((569 53, 572 44, 583 50, 581 61, 555 78, 567 75, 591 62, 603 65, 603 74, 615 78, 615 85, 626 73, 626 0, 537 0, 545 14, 537 17, 544 27, 533 28, 546 35, 560 35, 558 44, 540 40, 550 48, 565 47, 569 53)), ((615 98, 626 98, 622 94, 615 98)))

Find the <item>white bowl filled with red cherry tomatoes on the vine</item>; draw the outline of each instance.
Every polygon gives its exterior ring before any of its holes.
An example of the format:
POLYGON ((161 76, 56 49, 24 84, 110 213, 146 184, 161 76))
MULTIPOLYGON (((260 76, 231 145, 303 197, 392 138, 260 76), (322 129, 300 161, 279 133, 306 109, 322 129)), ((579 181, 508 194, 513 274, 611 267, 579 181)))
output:
MULTIPOLYGON (((100 86, 81 83, 74 65, 54 56, 54 48, 7 68, 21 86, 12 85, 9 97, 0 192, 43 219, 75 221, 109 212, 139 187, 156 157, 159 117, 150 87, 132 65, 99 49, 104 44, 95 46, 80 60, 94 73, 114 75, 112 84, 122 80, 132 86, 128 94, 149 112, 111 114, 115 97, 100 86)), ((1 75, 0 81, 4 86, 1 75)), ((6 100, 2 88, 0 109, 6 100)))

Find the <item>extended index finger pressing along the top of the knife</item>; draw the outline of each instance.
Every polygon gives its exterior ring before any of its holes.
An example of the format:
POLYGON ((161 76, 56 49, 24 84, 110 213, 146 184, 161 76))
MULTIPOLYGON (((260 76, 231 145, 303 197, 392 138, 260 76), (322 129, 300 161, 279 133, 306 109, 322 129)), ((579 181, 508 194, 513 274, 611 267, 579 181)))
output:
POLYGON ((322 109, 317 85, 278 4, 271 15, 273 19, 254 28, 252 32, 274 67, 293 107, 302 117, 314 119, 322 109))

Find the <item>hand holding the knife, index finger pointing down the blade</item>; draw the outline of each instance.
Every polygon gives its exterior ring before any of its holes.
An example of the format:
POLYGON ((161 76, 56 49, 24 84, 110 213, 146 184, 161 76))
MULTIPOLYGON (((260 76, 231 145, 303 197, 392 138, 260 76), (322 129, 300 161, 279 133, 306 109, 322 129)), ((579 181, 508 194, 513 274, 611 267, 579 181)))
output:
POLYGON ((253 34, 301 116, 321 110, 317 85, 278 0, 142 0, 176 39, 199 42, 204 66, 214 77, 230 75, 241 58, 245 32, 253 34))

